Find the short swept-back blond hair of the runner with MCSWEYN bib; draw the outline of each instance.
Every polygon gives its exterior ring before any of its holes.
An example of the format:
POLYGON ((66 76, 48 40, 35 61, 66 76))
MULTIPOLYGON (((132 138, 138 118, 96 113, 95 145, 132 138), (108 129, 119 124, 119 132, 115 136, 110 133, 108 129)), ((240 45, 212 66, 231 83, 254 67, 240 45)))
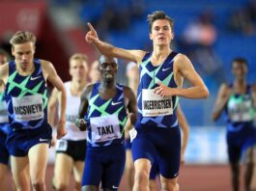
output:
POLYGON ((33 33, 29 31, 18 31, 14 34, 14 36, 10 40, 10 43, 12 44, 12 46, 14 46, 15 44, 25 43, 28 41, 33 42, 33 44, 35 45, 37 38, 33 33))

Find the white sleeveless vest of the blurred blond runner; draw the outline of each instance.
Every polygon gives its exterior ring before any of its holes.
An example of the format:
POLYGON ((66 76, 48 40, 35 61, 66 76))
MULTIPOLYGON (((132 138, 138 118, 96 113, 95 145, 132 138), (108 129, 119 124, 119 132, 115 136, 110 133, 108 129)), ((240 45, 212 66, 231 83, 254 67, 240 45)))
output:
POLYGON ((65 140, 85 140, 86 133, 80 131, 74 124, 78 118, 78 109, 80 104, 80 96, 71 95, 71 82, 64 84, 67 93, 67 108, 66 108, 66 130, 67 134, 62 138, 65 140))

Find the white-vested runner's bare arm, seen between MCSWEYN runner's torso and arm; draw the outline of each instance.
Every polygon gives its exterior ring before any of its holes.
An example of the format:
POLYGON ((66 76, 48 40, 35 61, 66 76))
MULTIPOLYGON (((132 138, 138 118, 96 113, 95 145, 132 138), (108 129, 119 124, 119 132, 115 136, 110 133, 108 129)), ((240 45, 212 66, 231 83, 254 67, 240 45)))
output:
POLYGON ((59 121, 58 116, 58 96, 59 93, 56 88, 54 88, 51 92, 49 101, 48 101, 48 122, 52 126, 56 126, 59 121), (57 118, 57 120, 56 120, 57 118))

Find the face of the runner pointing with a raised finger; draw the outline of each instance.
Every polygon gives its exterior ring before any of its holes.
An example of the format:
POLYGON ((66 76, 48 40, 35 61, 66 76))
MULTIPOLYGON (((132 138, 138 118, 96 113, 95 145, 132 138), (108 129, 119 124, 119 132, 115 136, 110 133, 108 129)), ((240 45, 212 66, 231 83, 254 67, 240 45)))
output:
POLYGON ((174 35, 167 19, 158 19, 152 25, 150 39, 156 45, 169 45, 174 35))

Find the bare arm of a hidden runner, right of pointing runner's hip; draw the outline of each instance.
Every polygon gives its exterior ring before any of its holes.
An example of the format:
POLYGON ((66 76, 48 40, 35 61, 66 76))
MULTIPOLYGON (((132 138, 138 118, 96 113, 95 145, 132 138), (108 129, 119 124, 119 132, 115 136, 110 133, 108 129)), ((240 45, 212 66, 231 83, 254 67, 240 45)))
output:
POLYGON ((189 138, 189 126, 186 122, 184 113, 180 107, 180 105, 177 107, 177 117, 178 122, 180 124, 180 127, 183 131, 183 140, 182 140, 182 150, 181 150, 181 161, 185 162, 185 148, 187 146, 188 138, 189 138))

